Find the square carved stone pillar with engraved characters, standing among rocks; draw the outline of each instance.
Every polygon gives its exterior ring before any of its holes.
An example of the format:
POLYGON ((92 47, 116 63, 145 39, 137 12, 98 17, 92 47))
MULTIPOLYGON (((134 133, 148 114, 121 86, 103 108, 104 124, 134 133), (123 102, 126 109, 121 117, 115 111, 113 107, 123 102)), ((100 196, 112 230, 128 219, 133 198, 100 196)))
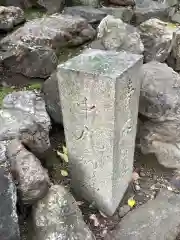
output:
POLYGON ((131 179, 141 64, 140 55, 88 49, 58 67, 72 184, 107 215, 131 179))

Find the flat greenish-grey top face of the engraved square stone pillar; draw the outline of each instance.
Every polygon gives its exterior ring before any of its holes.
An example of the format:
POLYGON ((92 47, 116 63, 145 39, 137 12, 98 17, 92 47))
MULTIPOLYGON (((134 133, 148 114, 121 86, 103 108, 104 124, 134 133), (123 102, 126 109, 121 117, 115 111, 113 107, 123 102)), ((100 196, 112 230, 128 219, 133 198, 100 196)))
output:
POLYGON ((142 57, 142 55, 125 51, 86 49, 80 55, 60 64, 58 69, 71 69, 116 78, 141 60, 142 57))

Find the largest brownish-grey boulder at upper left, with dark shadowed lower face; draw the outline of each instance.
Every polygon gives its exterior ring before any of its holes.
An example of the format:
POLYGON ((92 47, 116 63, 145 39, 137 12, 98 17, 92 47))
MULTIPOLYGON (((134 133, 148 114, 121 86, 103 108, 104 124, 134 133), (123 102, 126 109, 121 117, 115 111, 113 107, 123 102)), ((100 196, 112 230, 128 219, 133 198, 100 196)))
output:
POLYGON ((64 46, 93 39, 95 30, 78 16, 53 14, 24 24, 0 41, 3 64, 27 77, 47 78, 64 46))

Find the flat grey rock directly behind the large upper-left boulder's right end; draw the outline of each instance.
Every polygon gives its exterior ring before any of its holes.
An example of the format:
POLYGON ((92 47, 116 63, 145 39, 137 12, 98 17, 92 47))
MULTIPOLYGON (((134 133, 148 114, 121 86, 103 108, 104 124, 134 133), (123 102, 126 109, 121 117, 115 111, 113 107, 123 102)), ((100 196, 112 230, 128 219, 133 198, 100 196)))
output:
POLYGON ((107 15, 100 9, 96 9, 90 6, 66 7, 63 10, 63 14, 80 16, 82 18, 85 18, 89 23, 98 23, 107 15))

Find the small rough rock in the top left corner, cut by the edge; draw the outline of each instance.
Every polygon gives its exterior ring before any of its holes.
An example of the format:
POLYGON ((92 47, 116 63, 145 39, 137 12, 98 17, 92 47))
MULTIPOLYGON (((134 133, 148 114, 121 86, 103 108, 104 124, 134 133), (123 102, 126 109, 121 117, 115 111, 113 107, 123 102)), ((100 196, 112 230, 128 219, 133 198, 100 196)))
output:
POLYGON ((0 6, 0 30, 8 31, 25 21, 24 12, 18 7, 0 6))

